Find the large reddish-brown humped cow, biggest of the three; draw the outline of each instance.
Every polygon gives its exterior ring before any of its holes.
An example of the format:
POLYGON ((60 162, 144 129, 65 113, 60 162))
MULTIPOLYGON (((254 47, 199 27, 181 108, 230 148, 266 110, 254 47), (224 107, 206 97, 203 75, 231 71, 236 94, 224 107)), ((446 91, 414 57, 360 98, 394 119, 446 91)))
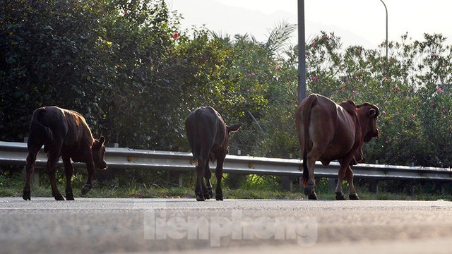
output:
POLYGON ((316 200, 314 165, 338 160, 336 200, 345 200, 342 192, 344 176, 349 185, 350 200, 359 200, 353 185, 351 166, 363 159, 362 146, 379 137, 376 119, 379 108, 374 104, 356 105, 351 99, 336 104, 322 95, 312 94, 297 108, 296 122, 300 152, 303 157, 302 185, 304 194, 316 200))

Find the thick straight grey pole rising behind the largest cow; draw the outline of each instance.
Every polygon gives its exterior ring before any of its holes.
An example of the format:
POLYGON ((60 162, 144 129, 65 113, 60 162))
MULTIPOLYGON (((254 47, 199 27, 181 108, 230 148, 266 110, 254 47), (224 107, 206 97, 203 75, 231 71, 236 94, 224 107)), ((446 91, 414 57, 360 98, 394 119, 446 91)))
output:
POLYGON ((306 97, 306 40, 304 39, 304 0, 298 0, 298 104, 306 97))

